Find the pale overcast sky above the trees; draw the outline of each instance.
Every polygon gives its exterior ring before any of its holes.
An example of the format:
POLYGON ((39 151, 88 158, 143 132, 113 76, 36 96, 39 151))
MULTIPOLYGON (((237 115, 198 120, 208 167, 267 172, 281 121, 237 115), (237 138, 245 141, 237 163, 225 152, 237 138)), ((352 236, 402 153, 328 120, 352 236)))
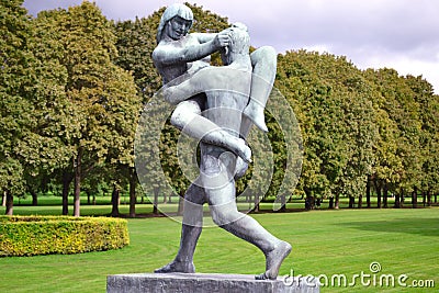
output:
MULTIPOLYGON (((68 8, 82 0, 25 0, 41 10, 68 8)), ((95 0, 113 20, 148 16, 176 0, 95 0)), ((347 56, 361 69, 391 67, 423 75, 439 93, 438 0, 194 0, 205 10, 247 24, 251 44, 347 56)))

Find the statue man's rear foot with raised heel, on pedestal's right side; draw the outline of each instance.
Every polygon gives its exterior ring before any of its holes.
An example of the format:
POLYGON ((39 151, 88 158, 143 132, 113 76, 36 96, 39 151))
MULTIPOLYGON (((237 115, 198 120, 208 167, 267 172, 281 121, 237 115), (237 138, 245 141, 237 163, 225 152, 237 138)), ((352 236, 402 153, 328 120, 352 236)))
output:
POLYGON ((281 241, 273 250, 266 255, 266 272, 256 275, 256 280, 275 280, 282 261, 290 255, 291 245, 281 241))

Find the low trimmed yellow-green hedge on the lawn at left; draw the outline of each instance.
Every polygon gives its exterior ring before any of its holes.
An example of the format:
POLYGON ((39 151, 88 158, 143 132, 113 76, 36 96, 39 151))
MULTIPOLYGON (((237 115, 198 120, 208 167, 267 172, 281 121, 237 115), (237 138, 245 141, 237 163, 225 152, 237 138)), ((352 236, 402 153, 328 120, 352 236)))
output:
POLYGON ((126 219, 0 216, 0 257, 81 253, 128 244, 126 219))

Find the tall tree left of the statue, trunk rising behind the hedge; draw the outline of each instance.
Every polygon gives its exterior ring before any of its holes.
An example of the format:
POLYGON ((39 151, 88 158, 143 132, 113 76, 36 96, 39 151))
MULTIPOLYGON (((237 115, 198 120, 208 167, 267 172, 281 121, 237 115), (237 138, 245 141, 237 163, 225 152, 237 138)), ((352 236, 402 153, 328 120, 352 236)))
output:
POLYGON ((74 131, 65 129, 58 136, 69 149, 64 189, 68 191, 74 181, 74 214, 79 216, 86 176, 105 162, 130 160, 126 156, 132 153, 139 100, 131 75, 112 61, 117 55, 115 36, 95 4, 85 1, 67 11, 46 12, 38 15, 37 23, 57 36, 47 37, 53 42, 46 43, 46 49, 55 47, 58 53, 47 59, 54 59, 65 75, 59 80, 64 91, 59 97, 66 97, 64 117, 74 131))

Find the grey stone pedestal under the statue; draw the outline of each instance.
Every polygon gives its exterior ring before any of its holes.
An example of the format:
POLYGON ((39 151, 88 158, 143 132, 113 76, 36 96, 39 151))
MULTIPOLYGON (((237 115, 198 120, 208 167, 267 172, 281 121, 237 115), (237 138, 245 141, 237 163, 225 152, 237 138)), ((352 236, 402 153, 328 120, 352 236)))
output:
POLYGON ((108 293, 318 293, 311 278, 255 280, 248 274, 219 273, 134 273, 109 275, 108 293))

